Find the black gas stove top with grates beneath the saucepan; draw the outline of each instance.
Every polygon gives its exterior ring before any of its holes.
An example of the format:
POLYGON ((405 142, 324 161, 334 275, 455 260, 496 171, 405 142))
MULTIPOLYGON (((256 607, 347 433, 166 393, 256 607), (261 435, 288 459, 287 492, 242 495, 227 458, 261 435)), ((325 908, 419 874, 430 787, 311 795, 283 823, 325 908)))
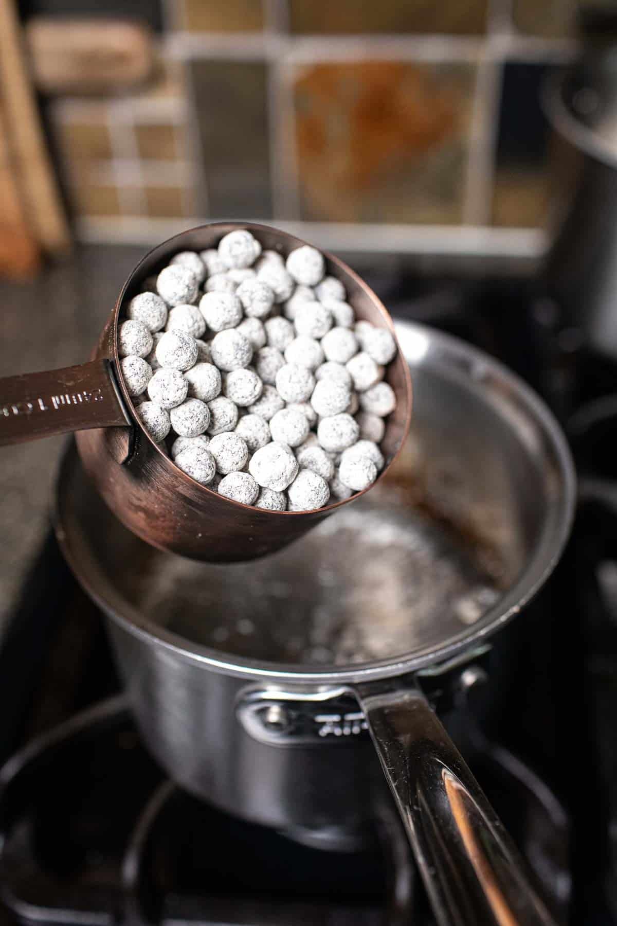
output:
MULTIPOLYGON (((583 481, 565 557, 494 639, 486 682, 444 720, 555 919, 617 922, 610 370, 585 356, 576 332, 560 330, 555 307, 524 280, 374 284, 395 316, 462 336, 516 369, 572 435, 583 481)), ((0 923, 433 921, 389 801, 372 842, 328 851, 167 780, 130 717, 102 617, 51 532, 0 648, 0 705, 0 923)))

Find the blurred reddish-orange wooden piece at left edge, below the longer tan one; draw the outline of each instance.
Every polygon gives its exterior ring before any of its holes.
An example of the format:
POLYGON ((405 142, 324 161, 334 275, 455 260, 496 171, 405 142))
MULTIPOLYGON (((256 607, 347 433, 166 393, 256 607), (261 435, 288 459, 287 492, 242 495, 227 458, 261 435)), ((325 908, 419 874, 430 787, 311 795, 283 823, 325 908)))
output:
POLYGON ((26 277, 41 264, 41 252, 26 220, 16 169, 8 146, 0 101, 0 274, 26 277))

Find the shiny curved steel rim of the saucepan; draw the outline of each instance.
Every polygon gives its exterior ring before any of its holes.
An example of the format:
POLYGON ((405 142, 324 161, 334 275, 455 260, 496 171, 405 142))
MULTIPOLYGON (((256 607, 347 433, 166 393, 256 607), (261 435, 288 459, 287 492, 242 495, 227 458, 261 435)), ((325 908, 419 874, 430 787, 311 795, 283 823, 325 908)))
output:
MULTIPOLYGON (((115 601, 113 590, 111 594, 105 594, 101 587, 97 587, 96 563, 93 562, 93 557, 89 557, 91 569, 86 575, 82 569, 83 551, 80 550, 79 555, 75 556, 71 550, 70 538, 64 531, 60 516, 60 493, 58 491, 56 493, 56 533, 59 543, 78 580, 98 606, 105 611, 105 614, 125 632, 141 638, 146 644, 167 651, 169 658, 180 658, 195 665, 201 665, 204 669, 212 669, 254 682, 272 685, 285 682, 296 686, 353 684, 413 673, 418 669, 450 660, 465 650, 483 644, 488 636, 500 630, 518 614, 537 594, 555 568, 572 526, 576 482, 574 463, 565 437, 557 420, 539 396, 516 374, 493 357, 489 357, 483 351, 458 338, 415 322, 398 321, 396 328, 403 357, 406 358, 408 364, 413 364, 414 359, 410 357, 410 352, 412 354, 416 352, 416 361, 421 359, 418 354, 422 352, 427 356, 432 355, 432 362, 444 375, 464 376, 470 389, 485 390, 486 393, 487 382, 492 382, 494 386, 492 394, 499 394, 504 400, 510 401, 512 411, 518 414, 526 413, 528 419, 536 424, 537 431, 541 433, 543 439, 543 452, 552 461, 553 480, 557 480, 556 497, 549 505, 547 518, 524 569, 494 606, 489 607, 475 624, 463 627, 460 632, 450 636, 441 644, 427 644, 409 653, 387 659, 357 665, 348 664, 336 668, 332 666, 307 668, 302 665, 240 659, 201 644, 190 643, 179 634, 170 632, 165 627, 147 619, 137 609, 130 607, 119 595, 115 601), (122 608, 123 613, 120 613, 118 607, 122 608)), ((62 473, 58 479, 58 489, 61 483, 62 473)), ((107 586, 106 581, 98 584, 107 586)))

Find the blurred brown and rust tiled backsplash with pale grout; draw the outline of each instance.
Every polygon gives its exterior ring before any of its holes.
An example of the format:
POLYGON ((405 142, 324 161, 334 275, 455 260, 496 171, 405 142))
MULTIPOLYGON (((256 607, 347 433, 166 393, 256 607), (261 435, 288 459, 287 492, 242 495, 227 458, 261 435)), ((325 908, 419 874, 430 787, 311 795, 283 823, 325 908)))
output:
MULTIPOLYGON (((586 0, 582 0, 583 3, 586 0)), ((167 0, 141 92, 50 104, 91 240, 263 219, 348 250, 530 253, 574 0, 167 0)))

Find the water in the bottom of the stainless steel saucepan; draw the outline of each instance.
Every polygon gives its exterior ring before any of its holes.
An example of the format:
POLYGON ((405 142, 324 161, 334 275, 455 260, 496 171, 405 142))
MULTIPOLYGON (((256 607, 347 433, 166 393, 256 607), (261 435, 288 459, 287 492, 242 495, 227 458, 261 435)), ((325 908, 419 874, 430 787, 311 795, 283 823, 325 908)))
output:
POLYGON ((413 443, 388 480, 280 553, 222 566, 156 557, 131 597, 192 643, 272 662, 366 662, 430 642, 433 625, 461 631, 512 581, 496 554, 507 527, 499 510, 470 519, 455 469, 431 469, 427 485, 410 455, 413 443))

